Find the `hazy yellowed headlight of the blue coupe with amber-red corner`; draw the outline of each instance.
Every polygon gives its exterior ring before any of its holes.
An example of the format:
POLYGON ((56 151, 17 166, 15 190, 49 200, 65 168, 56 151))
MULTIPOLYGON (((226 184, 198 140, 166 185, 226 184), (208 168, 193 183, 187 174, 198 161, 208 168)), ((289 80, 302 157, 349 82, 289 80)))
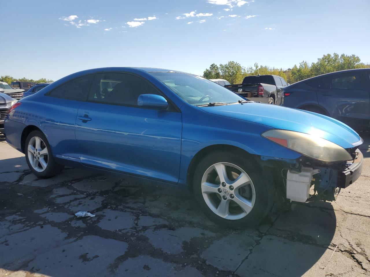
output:
POLYGON ((268 140, 316 160, 334 162, 348 161, 353 159, 343 147, 324 138, 310 134, 272 129, 262 133, 262 136, 268 140))

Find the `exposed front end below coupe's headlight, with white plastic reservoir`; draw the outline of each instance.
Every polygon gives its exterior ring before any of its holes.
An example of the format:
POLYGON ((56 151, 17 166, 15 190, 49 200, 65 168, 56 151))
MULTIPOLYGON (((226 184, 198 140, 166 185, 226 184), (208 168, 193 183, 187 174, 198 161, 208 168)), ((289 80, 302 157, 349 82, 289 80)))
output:
POLYGON ((290 201, 334 201, 340 189, 353 184, 361 175, 363 155, 356 150, 354 159, 340 164, 302 161, 286 173, 286 198, 290 201), (310 194, 311 191, 311 194, 310 194))

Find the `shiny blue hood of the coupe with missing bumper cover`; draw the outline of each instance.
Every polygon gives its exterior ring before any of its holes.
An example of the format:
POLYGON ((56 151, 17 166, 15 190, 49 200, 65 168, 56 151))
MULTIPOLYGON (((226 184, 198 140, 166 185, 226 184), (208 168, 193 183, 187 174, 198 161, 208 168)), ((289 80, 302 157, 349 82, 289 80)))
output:
POLYGON ((274 129, 314 134, 343 148, 360 144, 360 136, 346 124, 321 114, 262 103, 201 107, 207 113, 263 124, 274 129))

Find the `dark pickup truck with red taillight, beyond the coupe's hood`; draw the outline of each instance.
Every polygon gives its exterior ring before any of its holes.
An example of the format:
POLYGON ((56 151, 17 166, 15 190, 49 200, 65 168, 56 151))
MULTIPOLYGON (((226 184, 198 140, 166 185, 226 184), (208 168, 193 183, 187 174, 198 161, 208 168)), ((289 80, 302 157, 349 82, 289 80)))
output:
POLYGON ((243 83, 227 85, 225 88, 252 101, 280 105, 281 88, 287 85, 280 76, 256 75, 246 76, 243 83))

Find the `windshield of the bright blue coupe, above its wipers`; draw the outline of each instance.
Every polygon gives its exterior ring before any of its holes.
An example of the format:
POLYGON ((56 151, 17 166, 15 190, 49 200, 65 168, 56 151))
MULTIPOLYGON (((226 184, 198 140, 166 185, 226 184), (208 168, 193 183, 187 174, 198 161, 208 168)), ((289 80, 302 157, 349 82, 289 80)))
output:
POLYGON ((150 72, 150 74, 194 106, 215 102, 229 104, 245 100, 231 90, 196 75, 177 72, 150 72))

